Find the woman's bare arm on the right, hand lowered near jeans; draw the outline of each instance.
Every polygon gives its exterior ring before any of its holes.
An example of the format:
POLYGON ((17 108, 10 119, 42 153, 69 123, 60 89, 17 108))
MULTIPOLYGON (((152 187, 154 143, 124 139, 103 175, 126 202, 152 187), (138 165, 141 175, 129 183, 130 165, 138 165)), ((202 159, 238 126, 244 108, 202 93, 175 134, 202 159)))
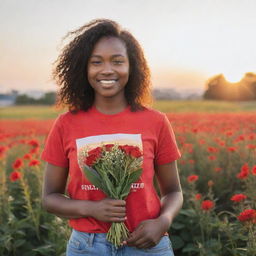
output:
POLYGON ((161 212, 158 218, 140 223, 124 244, 138 248, 150 248, 158 244, 171 226, 183 204, 176 161, 155 167, 161 191, 161 212))

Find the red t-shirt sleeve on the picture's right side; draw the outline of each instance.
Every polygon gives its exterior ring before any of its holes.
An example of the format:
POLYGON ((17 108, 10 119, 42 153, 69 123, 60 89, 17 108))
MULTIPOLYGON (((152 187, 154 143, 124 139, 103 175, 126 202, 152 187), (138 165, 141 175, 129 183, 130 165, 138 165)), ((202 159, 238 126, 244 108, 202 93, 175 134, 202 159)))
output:
POLYGON ((172 126, 165 114, 159 129, 155 163, 157 165, 171 163, 181 157, 172 126))

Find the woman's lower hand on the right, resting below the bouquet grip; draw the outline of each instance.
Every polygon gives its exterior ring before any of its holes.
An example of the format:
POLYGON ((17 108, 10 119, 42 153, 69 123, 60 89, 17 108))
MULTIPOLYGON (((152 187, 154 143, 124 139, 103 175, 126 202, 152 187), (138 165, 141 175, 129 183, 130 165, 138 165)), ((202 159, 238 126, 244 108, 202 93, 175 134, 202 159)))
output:
POLYGON ((123 244, 139 249, 151 248, 159 243, 169 226, 168 219, 164 217, 142 221, 123 244))

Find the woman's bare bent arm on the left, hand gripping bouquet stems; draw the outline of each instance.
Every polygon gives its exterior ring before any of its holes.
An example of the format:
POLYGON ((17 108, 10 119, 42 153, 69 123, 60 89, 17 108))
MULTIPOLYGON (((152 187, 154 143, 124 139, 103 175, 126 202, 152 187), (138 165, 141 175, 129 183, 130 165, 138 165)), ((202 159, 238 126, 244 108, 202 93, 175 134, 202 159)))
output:
POLYGON ((70 199, 64 194, 67 177, 67 168, 46 163, 42 204, 48 212, 69 219, 91 216, 105 222, 125 221, 125 201, 70 199))

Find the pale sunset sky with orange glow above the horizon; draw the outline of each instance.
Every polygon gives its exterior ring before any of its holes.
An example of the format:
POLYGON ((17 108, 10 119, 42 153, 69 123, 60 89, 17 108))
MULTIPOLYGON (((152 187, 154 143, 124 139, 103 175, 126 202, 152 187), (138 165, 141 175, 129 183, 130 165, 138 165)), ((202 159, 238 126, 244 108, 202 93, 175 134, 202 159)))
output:
POLYGON ((223 73, 256 72, 255 0, 0 0, 0 91, 54 90, 62 37, 110 18, 144 48, 153 86, 204 88, 223 73))

